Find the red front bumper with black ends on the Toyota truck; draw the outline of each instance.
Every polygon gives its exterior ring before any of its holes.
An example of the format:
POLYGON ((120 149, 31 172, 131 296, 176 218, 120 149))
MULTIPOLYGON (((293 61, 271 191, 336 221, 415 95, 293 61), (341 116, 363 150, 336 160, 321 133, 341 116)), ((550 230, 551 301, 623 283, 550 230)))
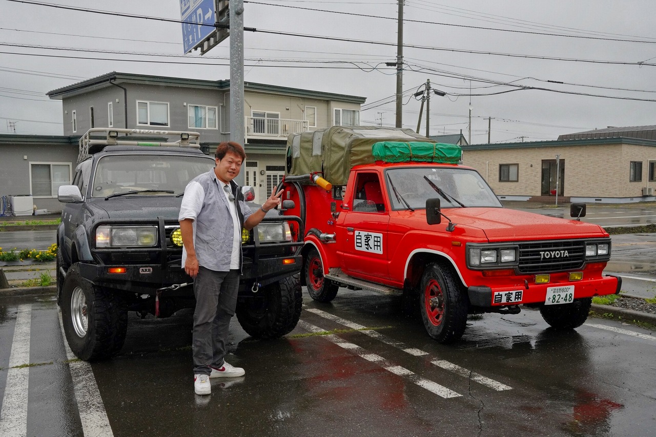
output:
POLYGON ((530 284, 523 287, 486 287, 486 286, 472 286, 468 287, 467 294, 469 301, 473 306, 482 308, 501 307, 506 305, 518 304, 541 304, 546 299, 547 288, 549 287, 563 287, 574 286, 574 299, 582 299, 585 297, 604 296, 618 294, 622 287, 622 278, 620 276, 612 276, 604 274, 602 278, 595 278, 583 281, 571 281, 568 283, 543 283, 543 284, 530 284), (521 292, 521 298, 516 300, 516 293, 521 292), (510 299, 512 302, 507 302, 502 299, 502 302, 495 302, 495 296, 501 293, 502 296, 506 293, 511 293, 510 299))

